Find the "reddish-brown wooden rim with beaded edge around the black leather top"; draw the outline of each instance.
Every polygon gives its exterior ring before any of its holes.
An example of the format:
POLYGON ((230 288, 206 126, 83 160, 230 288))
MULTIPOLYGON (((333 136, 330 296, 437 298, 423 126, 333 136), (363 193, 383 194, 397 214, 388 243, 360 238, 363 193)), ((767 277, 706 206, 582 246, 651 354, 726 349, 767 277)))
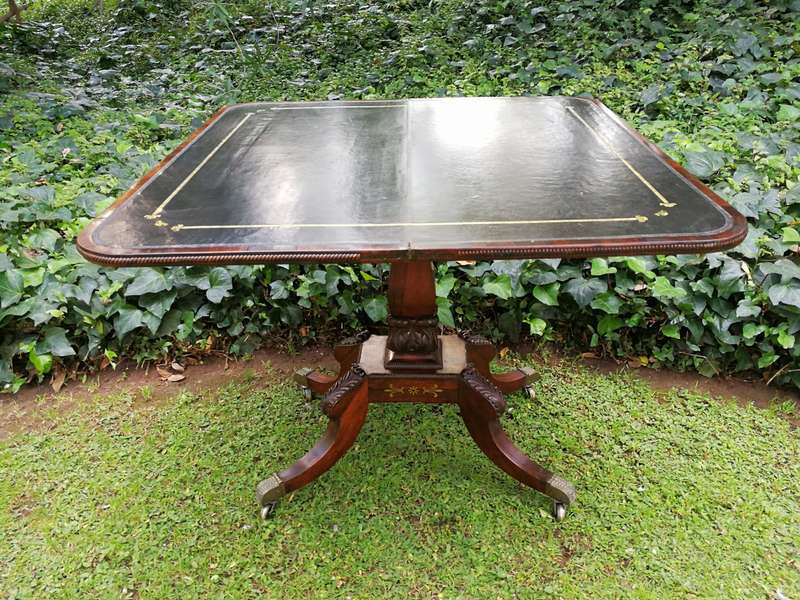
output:
MULTIPOLYGON (((460 98, 460 97, 459 97, 460 98)), ((482 98, 482 97, 464 97, 482 98)), ((485 98, 485 97, 484 97, 485 98)), ((156 176, 166 165, 193 143, 227 112, 253 105, 309 104, 308 102, 255 102, 229 104, 212 114, 200 127, 176 146, 166 157, 145 173, 131 188, 124 192, 101 215, 94 218, 78 235, 76 245, 87 260, 105 266, 178 266, 207 264, 267 264, 267 263, 376 263, 407 260, 475 260, 475 259, 535 259, 535 258, 589 258, 602 256, 633 256, 655 254, 695 254, 730 249, 738 245, 747 235, 747 221, 725 200, 710 190, 699 179, 673 160, 656 144, 645 138, 619 115, 608 108, 599 98, 587 96, 518 96, 498 98, 563 98, 590 102, 612 121, 631 133, 651 152, 685 177, 713 204, 725 214, 726 226, 715 232, 652 236, 649 238, 627 236, 618 238, 546 240, 531 243, 482 243, 473 248, 363 248, 357 250, 318 249, 310 251, 264 251, 247 246, 220 247, 196 246, 159 249, 116 249, 95 243, 93 234, 108 219, 116 208, 134 195, 143 185, 156 176)), ((348 100, 318 101, 315 105, 406 103, 413 100, 447 100, 451 98, 408 98, 400 100, 348 100)))

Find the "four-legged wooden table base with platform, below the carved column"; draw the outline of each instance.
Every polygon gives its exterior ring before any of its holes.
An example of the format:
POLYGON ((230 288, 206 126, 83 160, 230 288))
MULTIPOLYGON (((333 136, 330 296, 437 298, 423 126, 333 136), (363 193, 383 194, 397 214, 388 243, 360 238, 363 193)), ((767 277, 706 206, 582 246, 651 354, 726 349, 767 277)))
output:
POLYGON ((410 360, 396 369, 389 349, 391 337, 390 331, 389 336, 362 334, 345 340, 334 350, 338 376, 311 369, 295 374, 307 396, 323 396, 322 411, 330 422, 305 456, 258 484, 262 518, 274 513, 282 496, 311 483, 347 453, 366 420, 370 402, 423 402, 457 404, 472 439, 486 456, 514 479, 552 498, 554 517, 563 519, 575 500, 575 488, 514 446, 499 422, 506 409, 504 394, 523 388, 530 393, 533 371, 492 373, 494 346, 469 334, 437 335, 435 351, 423 353, 421 369, 415 369, 410 360), (431 370, 429 357, 435 355, 440 356, 441 367, 431 370))

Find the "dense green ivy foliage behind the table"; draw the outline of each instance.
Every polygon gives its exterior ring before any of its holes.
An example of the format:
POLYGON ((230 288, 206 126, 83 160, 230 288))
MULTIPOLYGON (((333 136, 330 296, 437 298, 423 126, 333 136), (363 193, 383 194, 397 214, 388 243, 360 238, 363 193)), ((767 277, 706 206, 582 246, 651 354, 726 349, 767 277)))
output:
POLYGON ((380 323, 381 266, 105 269, 74 239, 219 105, 589 94, 742 211, 727 253, 439 266, 449 326, 800 385, 800 1, 45 2, 0 29, 0 385, 380 323))

